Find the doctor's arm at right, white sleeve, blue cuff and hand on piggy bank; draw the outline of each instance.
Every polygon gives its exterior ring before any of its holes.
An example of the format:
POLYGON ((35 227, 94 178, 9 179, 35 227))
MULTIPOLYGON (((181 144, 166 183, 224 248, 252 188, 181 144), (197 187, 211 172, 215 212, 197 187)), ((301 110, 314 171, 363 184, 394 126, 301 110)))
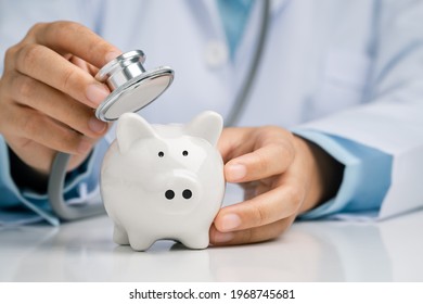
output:
MULTIPOLYGON (((381 16, 375 18, 377 39, 372 50, 374 73, 368 104, 298 127, 296 134, 309 140, 304 141, 305 144, 298 144, 286 134, 275 140, 261 140, 254 137, 253 131, 243 141, 238 141, 236 136, 222 139, 223 147, 231 147, 222 149, 223 155, 230 159, 226 164, 228 181, 247 182, 254 187, 246 189, 254 191, 249 191, 252 195, 244 202, 225 207, 218 214, 210 229, 214 243, 235 244, 275 238, 305 212, 304 216, 310 218, 362 212, 377 210, 384 201, 381 216, 386 217, 422 205, 419 174, 423 170, 423 31, 420 26, 423 3, 382 3, 381 16), (249 150, 242 151, 248 142, 246 139, 255 142, 249 150), (313 150, 310 141, 326 152, 307 152, 313 150), (337 152, 330 145, 336 145, 337 152), (261 153, 264 148, 273 153, 261 153), (333 191, 326 188, 331 182, 319 179, 329 180, 330 176, 342 175, 342 166, 329 156, 331 152, 336 157, 345 156, 337 159, 345 165, 344 179, 342 183, 338 179, 335 181, 334 185, 341 185, 341 191, 322 205, 322 198, 330 198, 324 193, 333 194, 333 191), (352 156, 354 161, 347 156, 352 156), (238 162, 243 163, 244 168, 232 166, 238 162), (330 168, 324 166, 329 174, 324 174, 324 168, 323 172, 319 169, 322 163, 329 164, 330 168), (270 167, 277 172, 257 175, 270 167), (357 168, 358 174, 351 174, 357 168), (234 178, 236 172, 241 179, 234 178), (370 176, 377 176, 375 173, 384 175, 380 187, 363 188, 364 183, 369 185, 370 176), (321 189, 313 189, 315 186, 321 189), (346 189, 352 191, 346 195, 346 189), (362 193, 370 193, 370 197, 362 193)), ((257 128, 257 132, 259 129, 265 131, 257 128)))

